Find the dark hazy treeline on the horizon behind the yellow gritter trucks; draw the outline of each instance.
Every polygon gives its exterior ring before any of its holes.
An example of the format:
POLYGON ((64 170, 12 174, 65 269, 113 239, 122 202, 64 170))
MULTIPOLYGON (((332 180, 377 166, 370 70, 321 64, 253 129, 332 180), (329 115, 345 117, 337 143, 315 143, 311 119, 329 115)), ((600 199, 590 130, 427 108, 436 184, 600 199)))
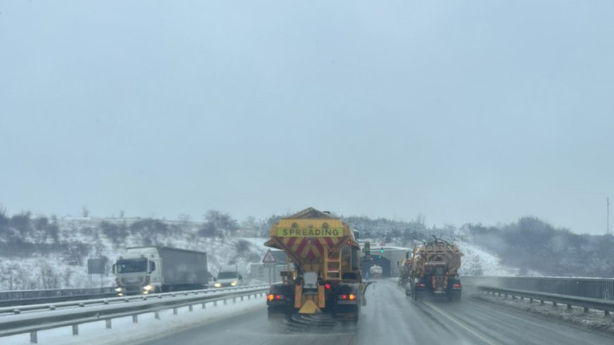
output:
MULTIPOLYGON (((289 214, 288 214, 289 215, 289 214)), ((260 233, 267 236, 270 226, 287 215, 272 215, 260 223, 260 233)), ((552 276, 614 277, 614 236, 574 234, 556 228, 537 217, 522 217, 502 226, 464 224, 425 225, 419 215, 411 222, 339 216, 362 238, 411 247, 433 236, 451 241, 462 240, 481 246, 501 259, 501 264, 519 268, 520 274, 535 271, 552 276)))

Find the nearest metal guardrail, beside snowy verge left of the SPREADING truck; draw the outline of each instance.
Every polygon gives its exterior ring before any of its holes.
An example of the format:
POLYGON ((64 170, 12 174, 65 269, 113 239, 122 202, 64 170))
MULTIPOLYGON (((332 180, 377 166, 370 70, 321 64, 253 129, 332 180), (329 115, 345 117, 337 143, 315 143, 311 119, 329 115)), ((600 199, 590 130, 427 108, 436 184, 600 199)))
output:
MULTIPOLYGON (((241 301, 243 301, 245 296, 248 299, 251 296, 262 296, 268 288, 269 285, 266 284, 231 288, 234 291, 215 290, 222 293, 210 293, 211 290, 194 290, 157 293, 148 296, 118 297, 105 300, 107 303, 103 301, 100 304, 99 302, 97 306, 92 305, 91 308, 71 308, 59 310, 60 313, 25 313, 24 315, 13 315, 13 317, 2 317, 0 318, 0 337, 30 333, 30 342, 37 344, 37 332, 45 329, 71 326, 73 335, 77 335, 79 325, 88 322, 105 320, 106 327, 111 328, 112 319, 117 317, 132 316, 133 322, 138 322, 138 315, 155 313, 155 317, 159 318, 159 311, 161 310, 173 309, 174 314, 176 314, 177 308, 187 306, 192 311, 193 305, 196 304, 201 304, 205 308, 205 303, 209 302, 217 305, 218 301, 224 301, 224 304, 226 304, 227 300, 231 298, 234 301, 236 301, 236 298, 241 298, 241 301), (121 303, 109 305, 112 300, 121 303)), ((49 308, 50 305, 47 305, 47 307, 49 308)))

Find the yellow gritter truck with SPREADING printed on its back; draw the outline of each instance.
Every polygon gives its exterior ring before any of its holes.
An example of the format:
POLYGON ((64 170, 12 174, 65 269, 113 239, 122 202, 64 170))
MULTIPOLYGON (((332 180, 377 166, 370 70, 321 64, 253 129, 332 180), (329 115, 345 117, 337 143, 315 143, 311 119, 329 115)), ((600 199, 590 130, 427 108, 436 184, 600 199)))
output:
POLYGON ((265 246, 288 255, 282 283, 267 294, 269 319, 330 313, 357 322, 366 301, 359 243, 349 225, 327 212, 308 208, 283 218, 265 246))

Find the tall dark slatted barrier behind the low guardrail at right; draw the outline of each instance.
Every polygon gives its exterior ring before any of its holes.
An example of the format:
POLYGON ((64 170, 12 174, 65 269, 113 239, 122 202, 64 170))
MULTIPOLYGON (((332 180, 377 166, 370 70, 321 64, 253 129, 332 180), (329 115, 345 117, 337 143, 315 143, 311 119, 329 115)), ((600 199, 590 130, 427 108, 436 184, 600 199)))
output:
POLYGON ((493 286, 614 301, 613 278, 466 276, 461 280, 465 286, 493 286))

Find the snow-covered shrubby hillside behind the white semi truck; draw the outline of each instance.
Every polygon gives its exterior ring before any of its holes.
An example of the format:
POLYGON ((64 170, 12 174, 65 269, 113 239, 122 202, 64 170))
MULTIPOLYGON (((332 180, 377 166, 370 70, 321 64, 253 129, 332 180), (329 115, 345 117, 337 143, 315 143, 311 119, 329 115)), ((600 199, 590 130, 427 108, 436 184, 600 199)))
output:
MULTIPOLYGON (((32 218, 33 224, 36 219, 32 218)), ((37 231, 30 231, 22 243, 24 250, 13 247, 11 255, 6 255, 6 250, 0 252, 0 291, 112 286, 110 267, 132 246, 204 251, 212 274, 227 263, 247 269, 249 262, 260 262, 266 251, 265 238, 242 238, 227 231, 220 231, 219 236, 202 236, 199 231, 203 223, 198 222, 64 218, 53 219, 52 223, 59 229, 57 243, 52 238, 41 241, 37 231), (35 250, 25 251, 26 248, 35 250), (107 258, 107 274, 90 276, 87 267, 90 258, 107 258)), ((4 244, 15 241, 3 239, 4 244)))

